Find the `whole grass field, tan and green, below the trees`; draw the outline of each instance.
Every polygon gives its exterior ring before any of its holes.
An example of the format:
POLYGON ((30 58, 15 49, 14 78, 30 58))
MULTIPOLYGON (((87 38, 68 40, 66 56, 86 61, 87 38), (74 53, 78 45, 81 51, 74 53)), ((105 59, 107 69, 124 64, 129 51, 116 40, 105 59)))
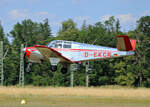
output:
POLYGON ((150 89, 0 87, 0 107, 150 107, 150 89))

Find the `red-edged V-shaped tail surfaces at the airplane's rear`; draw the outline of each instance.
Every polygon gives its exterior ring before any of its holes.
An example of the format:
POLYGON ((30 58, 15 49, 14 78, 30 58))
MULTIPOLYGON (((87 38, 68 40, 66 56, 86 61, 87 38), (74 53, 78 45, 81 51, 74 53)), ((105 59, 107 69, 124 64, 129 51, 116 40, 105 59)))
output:
POLYGON ((134 51, 136 40, 130 40, 127 35, 117 36, 117 49, 119 51, 134 51))

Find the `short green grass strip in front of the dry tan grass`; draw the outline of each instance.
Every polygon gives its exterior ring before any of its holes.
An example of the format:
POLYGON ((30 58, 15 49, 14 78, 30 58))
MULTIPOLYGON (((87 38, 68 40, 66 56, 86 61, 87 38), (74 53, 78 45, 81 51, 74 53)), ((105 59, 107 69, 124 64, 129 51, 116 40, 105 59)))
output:
POLYGON ((150 107, 150 99, 84 96, 1 96, 0 107, 150 107), (20 104, 25 99, 27 104, 20 104))

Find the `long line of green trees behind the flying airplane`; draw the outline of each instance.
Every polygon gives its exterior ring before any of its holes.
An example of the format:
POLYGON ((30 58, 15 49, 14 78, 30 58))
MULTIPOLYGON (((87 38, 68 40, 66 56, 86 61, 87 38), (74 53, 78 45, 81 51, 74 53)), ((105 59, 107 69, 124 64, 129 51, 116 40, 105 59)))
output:
MULTIPOLYGON (((89 74, 90 86, 126 85, 135 87, 150 87, 150 16, 137 20, 135 30, 122 32, 120 22, 113 16, 104 23, 97 22, 87 25, 83 22, 81 28, 68 19, 62 22, 57 36, 52 35, 48 19, 42 23, 23 20, 14 25, 9 34, 5 34, 0 25, 0 40, 4 41, 4 51, 9 48, 4 59, 4 85, 17 85, 20 71, 20 46, 46 45, 52 40, 69 40, 95 45, 116 47, 116 35, 128 35, 138 41, 136 54, 116 59, 106 59, 90 62, 93 71, 89 74), (11 37, 11 43, 8 38, 11 37)), ((35 86, 69 86, 70 72, 61 74, 60 65, 57 72, 51 72, 50 63, 32 64, 27 72, 28 61, 25 59, 25 85, 35 86)), ((74 73, 74 85, 85 86, 85 68, 74 73)))

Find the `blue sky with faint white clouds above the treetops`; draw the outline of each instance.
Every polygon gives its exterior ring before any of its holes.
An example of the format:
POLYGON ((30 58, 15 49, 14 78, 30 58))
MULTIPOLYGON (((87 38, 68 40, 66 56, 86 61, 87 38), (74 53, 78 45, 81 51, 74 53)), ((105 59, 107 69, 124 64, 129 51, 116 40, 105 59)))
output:
POLYGON ((94 25, 115 16, 121 30, 134 29, 136 21, 150 15, 150 0, 0 0, 0 21, 5 33, 17 22, 32 19, 43 22, 49 19, 53 35, 61 28, 61 22, 73 19, 80 28, 83 21, 94 25))

